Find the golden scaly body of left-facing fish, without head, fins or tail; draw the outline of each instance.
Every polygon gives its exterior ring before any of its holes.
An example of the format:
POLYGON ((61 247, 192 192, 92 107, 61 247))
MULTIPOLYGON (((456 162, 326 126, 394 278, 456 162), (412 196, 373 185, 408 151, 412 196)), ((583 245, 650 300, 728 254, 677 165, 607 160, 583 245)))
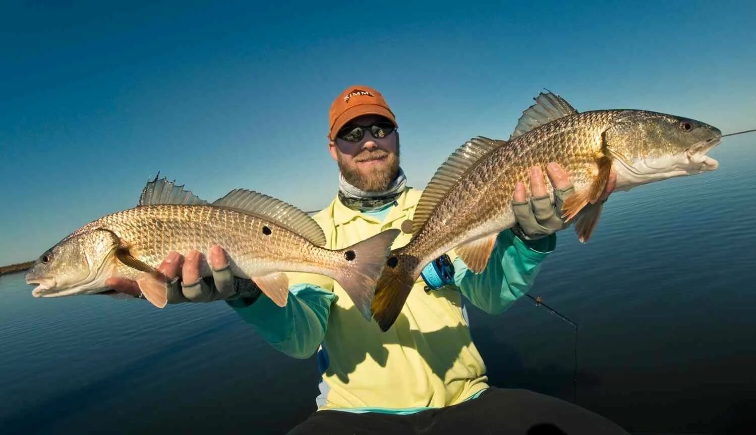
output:
MULTIPOLYGON (((250 214, 205 205, 148 205, 119 211, 98 219, 95 227, 113 231, 129 246, 135 258, 157 267, 170 251, 206 252, 213 244, 228 252, 235 276, 250 278, 295 264, 313 264, 306 272, 335 268, 336 251, 318 249, 302 236, 250 214), (263 233, 263 227, 271 230, 263 233)), ((212 270, 201 262, 202 276, 212 270)), ((300 269, 300 266, 296 266, 300 269)), ((119 264, 119 276, 133 278, 140 271, 119 264)))

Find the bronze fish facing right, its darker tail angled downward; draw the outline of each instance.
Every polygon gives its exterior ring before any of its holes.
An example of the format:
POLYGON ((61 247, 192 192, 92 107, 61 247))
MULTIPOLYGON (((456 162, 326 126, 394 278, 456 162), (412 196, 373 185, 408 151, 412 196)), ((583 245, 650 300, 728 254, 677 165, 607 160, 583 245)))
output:
MULTIPOLYGON (((433 259, 456 248, 473 273, 485 268, 497 234, 516 224, 515 186, 522 182, 529 191, 533 166, 557 162, 569 175, 574 193, 556 212, 575 222, 581 241, 596 227, 603 209, 596 200, 610 171, 617 190, 630 190, 717 168, 705 153, 719 143, 721 132, 703 122, 645 110, 578 113, 551 93, 535 100, 509 141, 477 137, 436 171, 415 212, 413 238, 392 251, 378 282, 373 318, 384 331, 433 259)), ((553 201, 545 171, 544 187, 553 201)))

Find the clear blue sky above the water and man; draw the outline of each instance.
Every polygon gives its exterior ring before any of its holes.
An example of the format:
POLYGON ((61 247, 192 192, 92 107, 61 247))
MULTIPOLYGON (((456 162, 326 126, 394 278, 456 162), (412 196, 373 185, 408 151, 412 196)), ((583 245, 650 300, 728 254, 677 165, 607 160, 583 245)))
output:
POLYGON ((132 207, 157 171, 326 205, 327 111, 352 84, 389 101, 415 187, 469 137, 509 137, 542 88, 756 127, 753 2, 114 5, 0 6, 0 265, 132 207))

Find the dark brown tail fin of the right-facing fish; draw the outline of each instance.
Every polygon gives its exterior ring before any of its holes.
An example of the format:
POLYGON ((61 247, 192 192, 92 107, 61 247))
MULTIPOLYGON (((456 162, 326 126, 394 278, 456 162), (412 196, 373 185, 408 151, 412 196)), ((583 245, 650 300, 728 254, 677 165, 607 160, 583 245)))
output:
POLYGON ((394 324, 401 307, 407 301, 417 276, 414 276, 417 258, 411 255, 396 254, 386 261, 387 267, 378 279, 376 295, 370 308, 373 319, 376 319, 380 329, 386 332, 394 324))

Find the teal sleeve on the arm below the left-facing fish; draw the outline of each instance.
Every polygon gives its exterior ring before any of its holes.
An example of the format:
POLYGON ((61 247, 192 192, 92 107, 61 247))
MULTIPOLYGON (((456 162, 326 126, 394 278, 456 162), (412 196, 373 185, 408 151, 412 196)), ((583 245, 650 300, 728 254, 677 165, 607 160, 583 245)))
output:
POLYGON ((296 284, 289 288, 284 307, 278 307, 266 296, 254 304, 228 301, 228 305, 244 322, 262 335, 277 350, 299 359, 308 358, 323 342, 328 325, 330 305, 336 295, 318 285, 296 284))

